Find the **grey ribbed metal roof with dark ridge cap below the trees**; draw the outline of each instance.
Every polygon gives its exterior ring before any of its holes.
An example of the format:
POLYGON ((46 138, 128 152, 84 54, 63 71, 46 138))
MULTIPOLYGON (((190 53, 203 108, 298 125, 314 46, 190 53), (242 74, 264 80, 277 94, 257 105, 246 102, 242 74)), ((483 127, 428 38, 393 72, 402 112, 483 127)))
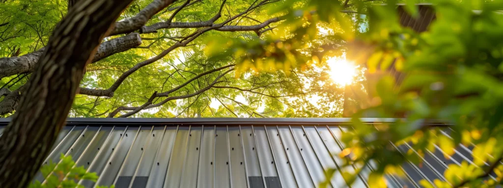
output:
MULTIPOLYGON (((10 119, 0 119, 7 123, 10 119)), ((367 123, 392 119, 365 118, 367 123)), ((100 176, 96 183, 116 187, 317 187, 323 169, 341 169, 330 153, 344 149, 347 118, 69 118, 46 161, 71 155, 78 166, 100 176)), ((0 132, 4 127, 0 126, 0 132)), ((0 133, 1 134, 1 133, 0 133)), ((447 133, 445 133, 447 135, 447 133)), ((402 152, 409 145, 397 146, 402 152)), ((424 164, 404 163, 405 177, 386 175, 389 187, 419 187, 426 178, 444 179, 451 163, 472 161, 460 145, 446 159, 437 147, 424 164)), ((352 187, 367 187, 374 163, 365 166, 352 187)), ((37 180, 43 181, 41 174, 37 180)), ((340 173, 332 187, 347 186, 340 173)))

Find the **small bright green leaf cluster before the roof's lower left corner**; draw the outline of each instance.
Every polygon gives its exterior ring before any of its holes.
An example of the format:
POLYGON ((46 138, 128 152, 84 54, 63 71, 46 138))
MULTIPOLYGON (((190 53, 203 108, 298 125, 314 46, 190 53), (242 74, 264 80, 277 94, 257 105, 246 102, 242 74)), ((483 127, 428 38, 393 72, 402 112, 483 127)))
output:
MULTIPOLYGON (((45 183, 36 180, 30 184, 30 188, 50 188, 50 187, 84 187, 79 185, 78 181, 86 179, 95 181, 98 180, 96 172, 88 172, 83 166, 76 167, 75 162, 70 155, 65 156, 61 153, 59 163, 45 164, 40 168, 42 175, 45 177, 45 183)), ((100 188, 107 188, 108 186, 97 186, 100 188)), ((114 185, 111 188, 115 187, 114 185)))

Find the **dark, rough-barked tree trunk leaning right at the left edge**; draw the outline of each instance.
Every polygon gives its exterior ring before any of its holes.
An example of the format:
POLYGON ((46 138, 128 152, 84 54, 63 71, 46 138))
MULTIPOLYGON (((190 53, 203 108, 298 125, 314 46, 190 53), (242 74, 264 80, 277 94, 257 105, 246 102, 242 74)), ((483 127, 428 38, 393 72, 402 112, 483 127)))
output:
POLYGON ((50 151, 97 46, 132 0, 79 0, 58 24, 0 137, 0 187, 26 187, 50 151))

